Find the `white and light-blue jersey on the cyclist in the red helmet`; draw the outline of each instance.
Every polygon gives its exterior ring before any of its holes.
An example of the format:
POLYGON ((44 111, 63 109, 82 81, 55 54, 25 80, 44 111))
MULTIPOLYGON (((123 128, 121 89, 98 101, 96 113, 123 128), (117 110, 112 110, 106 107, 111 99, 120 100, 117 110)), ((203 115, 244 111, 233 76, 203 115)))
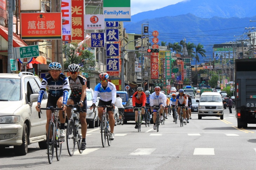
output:
POLYGON ((100 99, 104 102, 108 102, 111 100, 111 103, 116 102, 116 86, 111 82, 108 82, 106 88, 104 88, 101 85, 101 83, 95 86, 93 94, 93 103, 96 103, 98 94, 100 94, 100 99))

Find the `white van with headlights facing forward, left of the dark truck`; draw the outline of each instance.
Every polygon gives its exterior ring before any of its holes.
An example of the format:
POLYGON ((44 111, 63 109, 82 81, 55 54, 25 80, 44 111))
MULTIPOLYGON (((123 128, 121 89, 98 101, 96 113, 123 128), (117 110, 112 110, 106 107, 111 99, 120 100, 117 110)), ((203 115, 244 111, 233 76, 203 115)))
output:
POLYGON ((196 102, 199 102, 198 119, 202 119, 205 116, 216 116, 221 117, 221 120, 223 120, 224 107, 220 93, 204 92, 196 102))

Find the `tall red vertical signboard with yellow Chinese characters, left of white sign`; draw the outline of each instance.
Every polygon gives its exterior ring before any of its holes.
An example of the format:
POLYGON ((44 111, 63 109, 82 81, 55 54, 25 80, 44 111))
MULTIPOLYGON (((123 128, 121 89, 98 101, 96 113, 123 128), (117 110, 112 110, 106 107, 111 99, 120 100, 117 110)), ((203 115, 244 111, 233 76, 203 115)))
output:
POLYGON ((83 16, 84 16, 84 8, 85 1, 84 0, 72 0, 72 42, 80 43, 85 39, 84 35, 84 24, 83 24, 83 16))

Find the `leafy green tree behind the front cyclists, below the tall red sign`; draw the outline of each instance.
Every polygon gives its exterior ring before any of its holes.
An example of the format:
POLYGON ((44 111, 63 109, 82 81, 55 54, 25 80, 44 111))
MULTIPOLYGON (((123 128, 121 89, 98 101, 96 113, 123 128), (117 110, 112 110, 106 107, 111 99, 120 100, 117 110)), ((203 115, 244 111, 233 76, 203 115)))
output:
POLYGON ((67 60, 64 61, 64 69, 68 68, 70 64, 80 65, 80 72, 86 72, 90 74, 91 69, 95 69, 96 60, 93 53, 88 50, 82 50, 86 45, 79 46, 77 43, 71 43, 69 45, 63 45, 63 53, 67 60))

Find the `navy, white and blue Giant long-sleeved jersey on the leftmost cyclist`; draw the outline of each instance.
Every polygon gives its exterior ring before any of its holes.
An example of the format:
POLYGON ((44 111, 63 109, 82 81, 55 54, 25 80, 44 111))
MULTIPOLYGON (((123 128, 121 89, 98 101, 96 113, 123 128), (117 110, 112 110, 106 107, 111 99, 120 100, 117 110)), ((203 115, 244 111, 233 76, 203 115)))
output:
POLYGON ((50 76, 50 74, 43 78, 38 96, 39 103, 41 103, 43 94, 45 93, 47 87, 49 95, 54 97, 63 96, 63 104, 67 104, 69 81, 64 74, 60 73, 60 76, 56 81, 52 78, 52 76, 50 76))

